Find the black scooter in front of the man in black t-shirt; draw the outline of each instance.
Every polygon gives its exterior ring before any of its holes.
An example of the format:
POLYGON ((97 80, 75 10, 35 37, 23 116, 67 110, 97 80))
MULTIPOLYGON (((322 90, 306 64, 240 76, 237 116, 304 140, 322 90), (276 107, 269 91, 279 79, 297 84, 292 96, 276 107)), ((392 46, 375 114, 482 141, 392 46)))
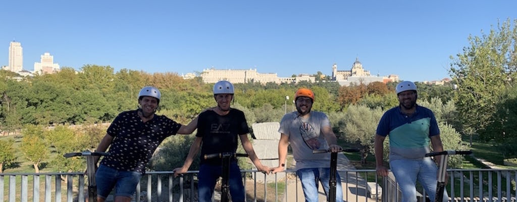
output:
POLYGON ((245 153, 212 153, 205 154, 205 159, 213 159, 213 158, 221 158, 222 161, 222 184, 221 184, 221 202, 227 202, 230 200, 230 162, 231 158, 235 157, 248 157, 248 154, 245 153))

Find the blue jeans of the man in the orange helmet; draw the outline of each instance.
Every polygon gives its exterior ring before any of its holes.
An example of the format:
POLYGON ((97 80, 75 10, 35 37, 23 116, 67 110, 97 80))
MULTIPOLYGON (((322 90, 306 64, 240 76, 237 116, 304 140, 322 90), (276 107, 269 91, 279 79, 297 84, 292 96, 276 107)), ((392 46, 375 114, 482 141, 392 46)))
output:
MULTIPOLYGON (((318 201, 318 181, 322 183, 323 190, 328 198, 330 168, 303 168, 297 170, 296 175, 300 178, 305 201, 318 201)), ((343 189, 341 188, 339 173, 336 173, 336 201, 343 201, 343 189)))

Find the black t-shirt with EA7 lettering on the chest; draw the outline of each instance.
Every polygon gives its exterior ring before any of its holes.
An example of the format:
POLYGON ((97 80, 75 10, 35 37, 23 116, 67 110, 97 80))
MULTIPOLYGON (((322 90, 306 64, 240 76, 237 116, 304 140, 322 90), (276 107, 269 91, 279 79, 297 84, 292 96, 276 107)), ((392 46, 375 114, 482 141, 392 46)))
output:
POLYGON ((230 112, 223 116, 211 110, 201 113, 197 119, 196 134, 202 137, 200 164, 221 165, 221 158, 205 160, 205 154, 235 153, 239 135, 249 132, 244 112, 235 108, 230 108, 230 112))

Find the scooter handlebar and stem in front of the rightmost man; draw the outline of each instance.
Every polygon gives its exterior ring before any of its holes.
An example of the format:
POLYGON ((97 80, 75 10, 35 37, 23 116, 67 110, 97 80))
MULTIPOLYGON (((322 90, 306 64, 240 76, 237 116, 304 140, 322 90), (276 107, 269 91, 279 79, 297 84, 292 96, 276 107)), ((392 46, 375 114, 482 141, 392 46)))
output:
POLYGON ((434 197, 435 202, 442 202, 444 199, 444 190, 445 190, 445 176, 447 174, 447 159, 449 155, 468 155, 471 154, 472 151, 439 151, 439 152, 431 152, 426 153, 425 157, 434 157, 434 156, 442 156, 440 159, 440 167, 438 168, 438 182, 436 184, 436 196, 434 197))

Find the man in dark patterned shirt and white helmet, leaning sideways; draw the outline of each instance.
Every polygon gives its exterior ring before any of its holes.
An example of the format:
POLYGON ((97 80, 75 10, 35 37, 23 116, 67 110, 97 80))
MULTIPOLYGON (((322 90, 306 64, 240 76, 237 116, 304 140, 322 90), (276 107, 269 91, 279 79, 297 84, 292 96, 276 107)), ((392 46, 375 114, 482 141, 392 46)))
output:
MULTIPOLYGON (((96 172, 97 201, 105 201, 115 188, 115 202, 131 201, 136 184, 145 173, 145 165, 158 145, 170 135, 191 134, 197 126, 197 117, 189 125, 156 115, 160 91, 151 86, 140 90, 137 110, 118 114, 97 146, 97 152, 110 147, 110 156, 104 157, 96 172)), ((99 158, 95 159, 97 162, 99 158)))

